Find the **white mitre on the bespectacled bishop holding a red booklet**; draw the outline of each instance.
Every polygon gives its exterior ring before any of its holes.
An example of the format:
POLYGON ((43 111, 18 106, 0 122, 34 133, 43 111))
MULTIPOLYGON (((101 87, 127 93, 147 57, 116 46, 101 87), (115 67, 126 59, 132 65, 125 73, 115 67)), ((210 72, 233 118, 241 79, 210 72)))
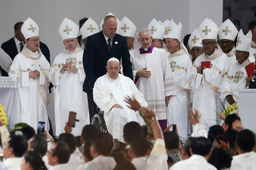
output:
POLYGON ((211 19, 206 18, 198 28, 200 37, 204 39, 216 39, 219 28, 211 19))

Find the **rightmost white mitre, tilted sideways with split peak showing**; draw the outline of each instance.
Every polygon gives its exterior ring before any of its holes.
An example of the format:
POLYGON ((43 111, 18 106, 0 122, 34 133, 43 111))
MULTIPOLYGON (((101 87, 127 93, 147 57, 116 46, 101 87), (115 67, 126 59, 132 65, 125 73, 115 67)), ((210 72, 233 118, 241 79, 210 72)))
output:
POLYGON ((247 51, 250 53, 251 40, 252 40, 252 32, 249 30, 249 32, 246 35, 244 35, 242 29, 240 29, 237 35, 237 40, 236 40, 236 50, 247 51))

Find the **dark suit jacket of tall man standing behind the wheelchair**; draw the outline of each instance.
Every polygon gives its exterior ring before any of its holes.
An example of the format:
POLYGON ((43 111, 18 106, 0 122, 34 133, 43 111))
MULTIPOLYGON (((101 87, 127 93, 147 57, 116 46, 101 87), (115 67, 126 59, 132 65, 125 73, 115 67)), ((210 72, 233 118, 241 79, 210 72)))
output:
POLYGON ((108 59, 112 57, 117 58, 120 62, 122 59, 124 76, 133 80, 132 63, 130 61, 126 38, 116 34, 112 40, 112 48, 109 52, 103 31, 87 38, 83 56, 84 71, 86 74, 83 85, 84 92, 92 90, 97 78, 106 74, 108 59))

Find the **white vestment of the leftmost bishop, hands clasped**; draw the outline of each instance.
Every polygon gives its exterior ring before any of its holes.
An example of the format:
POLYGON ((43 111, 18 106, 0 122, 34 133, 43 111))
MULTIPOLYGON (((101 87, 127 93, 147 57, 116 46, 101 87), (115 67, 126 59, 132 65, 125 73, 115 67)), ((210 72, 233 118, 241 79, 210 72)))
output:
POLYGON ((28 48, 24 48, 14 58, 9 76, 17 77, 18 96, 15 123, 25 122, 37 129, 38 121, 44 121, 45 130, 49 131, 50 126, 46 110, 50 101, 49 70, 50 63, 40 49, 33 53, 28 48), (40 72, 40 76, 37 79, 30 78, 29 72, 35 69, 40 72))

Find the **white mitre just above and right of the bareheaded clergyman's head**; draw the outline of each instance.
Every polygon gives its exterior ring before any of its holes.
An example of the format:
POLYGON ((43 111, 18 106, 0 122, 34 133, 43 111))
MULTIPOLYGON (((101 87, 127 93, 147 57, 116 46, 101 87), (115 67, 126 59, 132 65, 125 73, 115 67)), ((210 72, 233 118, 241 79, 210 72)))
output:
POLYGON ((164 26, 161 25, 155 18, 149 23, 148 29, 151 32, 152 38, 163 39, 164 26))

